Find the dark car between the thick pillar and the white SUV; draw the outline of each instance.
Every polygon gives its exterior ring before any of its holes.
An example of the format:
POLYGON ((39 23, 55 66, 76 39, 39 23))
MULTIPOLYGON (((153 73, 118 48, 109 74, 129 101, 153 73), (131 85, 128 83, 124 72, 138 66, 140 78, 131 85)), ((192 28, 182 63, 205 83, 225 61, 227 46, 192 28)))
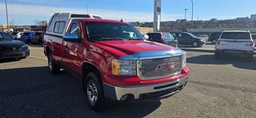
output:
POLYGON ((178 39, 178 45, 192 45, 198 47, 206 44, 206 40, 196 37, 192 33, 175 33, 178 39))

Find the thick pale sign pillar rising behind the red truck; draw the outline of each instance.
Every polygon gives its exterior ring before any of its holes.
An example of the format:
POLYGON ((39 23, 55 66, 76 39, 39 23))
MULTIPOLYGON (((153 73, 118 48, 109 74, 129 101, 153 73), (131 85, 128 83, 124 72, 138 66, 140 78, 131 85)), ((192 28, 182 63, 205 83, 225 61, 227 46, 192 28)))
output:
POLYGON ((160 31, 161 23, 161 0, 154 0, 154 32, 160 31))

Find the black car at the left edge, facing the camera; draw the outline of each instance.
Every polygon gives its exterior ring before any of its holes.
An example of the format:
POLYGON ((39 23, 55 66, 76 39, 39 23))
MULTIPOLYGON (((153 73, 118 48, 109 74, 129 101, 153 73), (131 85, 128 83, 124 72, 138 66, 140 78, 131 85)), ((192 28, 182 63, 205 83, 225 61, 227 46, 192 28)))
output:
POLYGON ((14 40, 9 33, 0 32, 0 59, 26 58, 30 55, 28 46, 18 40, 14 40))

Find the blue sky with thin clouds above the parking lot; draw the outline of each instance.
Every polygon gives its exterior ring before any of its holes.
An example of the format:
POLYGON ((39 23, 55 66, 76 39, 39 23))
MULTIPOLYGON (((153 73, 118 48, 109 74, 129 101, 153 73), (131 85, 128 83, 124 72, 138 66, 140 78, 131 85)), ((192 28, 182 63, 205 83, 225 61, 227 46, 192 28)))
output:
MULTIPOLYGON (((12 25, 34 25, 50 19, 54 12, 98 14, 125 22, 152 22, 154 0, 7 0, 12 25)), ((194 19, 230 19, 256 14, 256 0, 194 0, 194 19)), ((6 24, 5 0, 0 1, 0 24, 6 24)), ((190 0, 162 0, 162 21, 191 18, 190 0)))

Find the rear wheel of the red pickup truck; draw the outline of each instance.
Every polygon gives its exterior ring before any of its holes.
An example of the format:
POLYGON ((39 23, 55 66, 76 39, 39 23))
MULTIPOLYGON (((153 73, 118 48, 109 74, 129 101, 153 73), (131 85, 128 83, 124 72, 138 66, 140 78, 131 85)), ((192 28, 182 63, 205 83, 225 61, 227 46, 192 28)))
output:
POLYGON ((58 74, 61 70, 60 66, 56 65, 54 63, 54 60, 53 60, 53 57, 52 57, 51 53, 48 53, 47 57, 48 57, 48 67, 49 67, 50 73, 51 74, 58 74))

